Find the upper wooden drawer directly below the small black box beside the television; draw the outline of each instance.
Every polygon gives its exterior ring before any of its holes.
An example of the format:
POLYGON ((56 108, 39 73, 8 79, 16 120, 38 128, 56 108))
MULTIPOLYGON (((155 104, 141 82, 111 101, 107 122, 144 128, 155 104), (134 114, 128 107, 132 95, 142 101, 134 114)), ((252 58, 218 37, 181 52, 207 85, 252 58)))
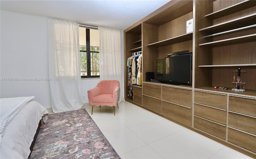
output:
POLYGON ((161 85, 143 83, 143 95, 161 99, 161 85))

